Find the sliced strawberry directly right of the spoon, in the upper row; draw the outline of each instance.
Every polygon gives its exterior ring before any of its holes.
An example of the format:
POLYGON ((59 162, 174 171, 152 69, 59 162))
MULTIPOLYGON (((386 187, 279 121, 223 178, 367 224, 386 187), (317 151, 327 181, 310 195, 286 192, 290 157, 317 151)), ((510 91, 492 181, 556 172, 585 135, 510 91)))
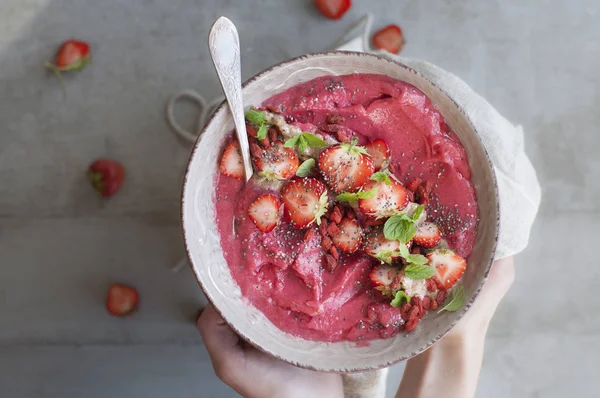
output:
POLYGON ((259 175, 269 180, 287 180, 296 175, 298 155, 292 148, 286 148, 281 141, 253 154, 254 165, 259 175))

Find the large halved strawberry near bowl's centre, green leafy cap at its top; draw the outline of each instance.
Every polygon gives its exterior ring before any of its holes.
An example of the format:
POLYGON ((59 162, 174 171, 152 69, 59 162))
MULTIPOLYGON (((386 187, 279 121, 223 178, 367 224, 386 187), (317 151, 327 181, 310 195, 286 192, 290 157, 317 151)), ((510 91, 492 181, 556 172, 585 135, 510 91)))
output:
POLYGON ((375 171, 365 148, 356 141, 331 146, 319 155, 319 170, 335 192, 355 192, 375 171))

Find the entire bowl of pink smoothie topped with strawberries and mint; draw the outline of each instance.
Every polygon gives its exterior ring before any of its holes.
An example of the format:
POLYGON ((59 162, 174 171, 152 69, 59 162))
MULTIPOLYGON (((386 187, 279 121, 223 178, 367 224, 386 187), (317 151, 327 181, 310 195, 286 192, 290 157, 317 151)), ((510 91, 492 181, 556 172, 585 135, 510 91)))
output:
POLYGON ((405 65, 299 57, 244 84, 255 175, 225 104, 192 152, 182 198, 193 271, 258 349, 321 371, 425 350, 483 286, 498 194, 470 120, 405 65))

